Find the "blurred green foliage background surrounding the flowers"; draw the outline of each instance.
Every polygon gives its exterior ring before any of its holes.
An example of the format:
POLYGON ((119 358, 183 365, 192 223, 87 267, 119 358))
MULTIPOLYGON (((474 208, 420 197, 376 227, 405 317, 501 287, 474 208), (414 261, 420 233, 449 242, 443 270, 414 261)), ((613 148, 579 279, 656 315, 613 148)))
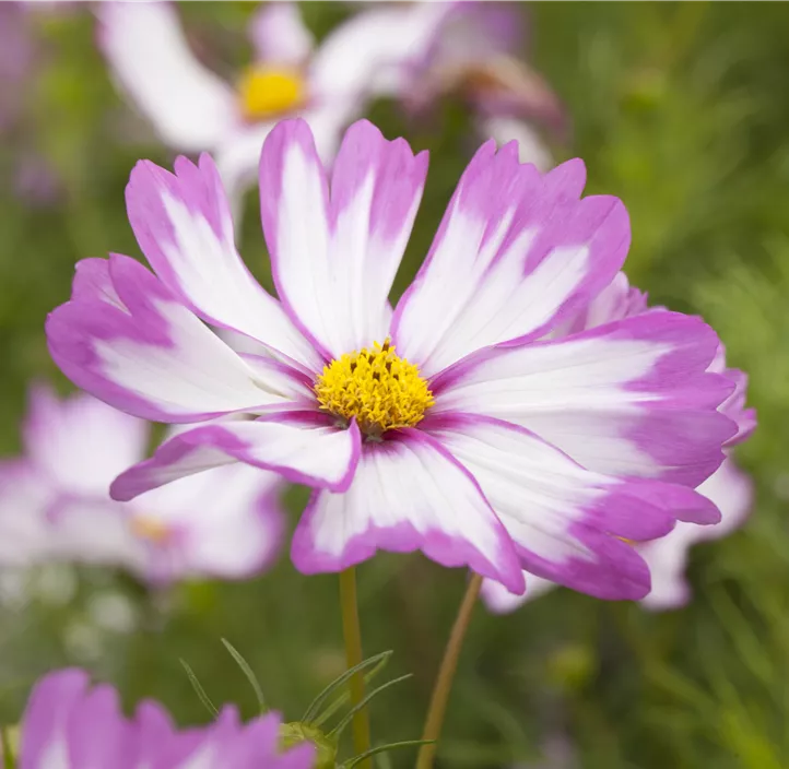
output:
MULTIPOLYGON (((252 4, 186 2, 181 10, 216 66, 232 71, 244 60, 252 4)), ((329 1, 304 10, 318 34, 348 13, 329 1)), ((656 303, 703 313, 731 364, 751 374, 761 426, 738 461, 755 478, 757 501, 743 531, 694 551, 695 600, 683 611, 651 615, 568 591, 508 617, 479 608, 441 766, 787 767, 789 3, 579 0, 528 10, 528 56, 565 99, 574 125, 569 145, 556 154, 584 157, 589 191, 625 201, 632 281, 656 303)), ((0 144, 0 453, 7 454, 19 450, 28 380, 51 378, 68 389, 46 353, 46 312, 67 298, 78 259, 138 253, 122 202, 128 173, 141 156, 170 159, 117 97, 87 14, 42 17, 35 26, 43 59, 19 90, 26 120, 0 144), (44 201, 21 196, 16 184, 19 158, 32 152, 57 171, 44 201)), ((370 114, 388 135, 407 135, 432 154, 402 291, 469 157, 468 116, 448 104, 428 127, 410 125, 391 104, 370 114)), ((268 280, 255 210, 250 197, 243 252, 268 280)), ((303 489, 288 496, 294 521, 304 499, 303 489)), ((42 579, 46 600, 0 610, 5 721, 16 718, 39 673, 64 663, 116 682, 129 702, 155 696, 179 720, 204 720, 178 658, 215 701, 237 701, 251 714, 252 693, 221 636, 291 719, 342 670, 337 580, 303 577, 285 555, 248 583, 189 584, 157 595, 106 572, 82 573, 71 598, 52 594, 63 573, 42 579), (132 632, 94 627, 96 596, 108 591, 132 598, 132 632)), ((393 649, 388 673, 415 674, 377 701, 375 733, 415 737, 464 575, 421 556, 385 555, 363 565, 360 580, 366 652, 393 649)), ((393 766, 411 760, 396 756, 393 766)))

